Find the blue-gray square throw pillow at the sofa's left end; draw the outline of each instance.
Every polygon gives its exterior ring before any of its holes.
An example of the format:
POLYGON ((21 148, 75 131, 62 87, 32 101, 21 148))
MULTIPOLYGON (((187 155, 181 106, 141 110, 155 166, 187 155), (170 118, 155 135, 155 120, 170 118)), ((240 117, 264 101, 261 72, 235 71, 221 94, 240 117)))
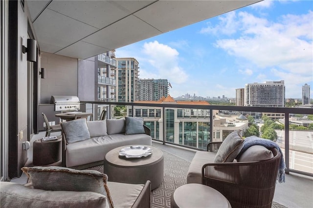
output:
POLYGON ((67 144, 90 139, 86 119, 77 119, 61 123, 67 144))

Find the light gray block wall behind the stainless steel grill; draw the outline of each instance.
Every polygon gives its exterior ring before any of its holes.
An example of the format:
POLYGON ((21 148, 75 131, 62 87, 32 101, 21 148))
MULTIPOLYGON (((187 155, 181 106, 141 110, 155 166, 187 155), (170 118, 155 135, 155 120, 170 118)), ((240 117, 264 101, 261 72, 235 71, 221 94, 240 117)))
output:
POLYGON ((41 67, 46 73, 41 79, 41 104, 49 104, 52 95, 78 95, 78 59, 43 52, 41 67))

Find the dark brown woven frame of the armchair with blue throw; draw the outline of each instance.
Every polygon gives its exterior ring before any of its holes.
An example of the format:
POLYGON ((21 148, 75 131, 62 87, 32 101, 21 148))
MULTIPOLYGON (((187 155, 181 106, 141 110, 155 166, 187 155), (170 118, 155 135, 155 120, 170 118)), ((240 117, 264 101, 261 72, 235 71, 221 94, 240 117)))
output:
POLYGON ((281 155, 270 150, 274 157, 265 161, 205 164, 202 184, 220 191, 233 208, 271 208, 281 155))

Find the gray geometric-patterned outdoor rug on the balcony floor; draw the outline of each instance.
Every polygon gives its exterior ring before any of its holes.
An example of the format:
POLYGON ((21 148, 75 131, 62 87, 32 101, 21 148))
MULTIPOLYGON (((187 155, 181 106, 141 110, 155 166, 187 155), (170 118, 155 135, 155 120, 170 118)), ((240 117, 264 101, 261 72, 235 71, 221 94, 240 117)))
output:
MULTIPOLYGON (((151 192, 151 208, 170 208, 171 196, 174 190, 187 181, 187 171, 190 163, 164 150, 164 178, 160 186, 151 192)), ((103 166, 90 167, 103 173, 103 166)), ((286 208, 273 201, 272 208, 286 208)))

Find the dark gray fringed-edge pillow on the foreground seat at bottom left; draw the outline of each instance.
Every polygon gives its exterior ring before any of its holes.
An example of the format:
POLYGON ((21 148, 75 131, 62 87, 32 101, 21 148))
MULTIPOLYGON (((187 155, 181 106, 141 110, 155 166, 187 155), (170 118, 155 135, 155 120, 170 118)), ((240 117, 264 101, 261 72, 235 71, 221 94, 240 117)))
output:
MULTIPOLYGON (((85 119, 84 119, 85 120, 85 119)), ((108 176, 96 170, 75 170, 59 166, 22 167, 34 188, 53 191, 91 191, 105 195, 114 207, 108 176)))

